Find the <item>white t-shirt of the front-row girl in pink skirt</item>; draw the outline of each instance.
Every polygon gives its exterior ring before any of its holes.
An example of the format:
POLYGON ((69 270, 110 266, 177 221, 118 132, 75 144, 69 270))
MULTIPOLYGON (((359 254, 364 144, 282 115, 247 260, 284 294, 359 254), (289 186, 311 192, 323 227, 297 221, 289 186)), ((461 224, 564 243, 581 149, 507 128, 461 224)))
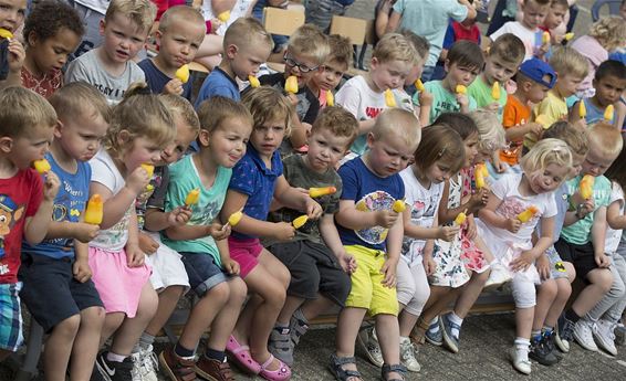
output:
MULTIPOLYGON (((104 148, 90 160, 90 166, 92 167, 92 182, 100 182, 108 188, 114 195, 126 184, 122 173, 104 148)), ((122 220, 109 229, 101 230, 97 236, 90 242, 90 246, 111 252, 124 248, 126 241, 128 241, 128 221, 134 209, 135 203, 133 202, 128 205, 128 210, 124 213, 122 220)))

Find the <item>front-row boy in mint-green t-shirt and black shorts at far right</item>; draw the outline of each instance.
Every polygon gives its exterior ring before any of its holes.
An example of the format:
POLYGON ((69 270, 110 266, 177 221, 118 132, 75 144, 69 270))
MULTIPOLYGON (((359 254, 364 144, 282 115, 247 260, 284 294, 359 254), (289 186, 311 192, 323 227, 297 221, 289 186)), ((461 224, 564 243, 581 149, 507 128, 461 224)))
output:
POLYGON ((620 298, 619 293, 612 289, 611 260, 605 254, 611 181, 603 174, 619 155, 623 140, 619 130, 604 123, 592 126, 588 137, 590 152, 583 162, 582 173, 567 182, 570 208, 554 247, 563 261, 574 264, 576 277, 586 284, 572 306, 559 318, 559 337, 571 341, 573 336, 583 348, 597 350, 593 326, 620 298), (590 200, 585 200, 578 190, 585 174, 595 177, 590 200), (603 298, 603 304, 594 307, 603 298))

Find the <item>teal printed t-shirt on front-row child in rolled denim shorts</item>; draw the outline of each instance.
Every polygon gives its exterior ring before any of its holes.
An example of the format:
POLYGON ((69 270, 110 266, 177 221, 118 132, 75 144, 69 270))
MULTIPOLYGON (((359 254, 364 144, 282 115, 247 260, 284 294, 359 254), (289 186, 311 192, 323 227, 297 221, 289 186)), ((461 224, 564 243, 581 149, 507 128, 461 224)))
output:
MULTIPOLYGON (((207 189, 200 182, 200 176, 194 165, 192 155, 184 157, 180 161, 169 166, 169 186, 167 187, 167 195, 165 198, 165 211, 169 212, 185 204, 187 193, 199 188, 200 198, 198 203, 191 208, 194 214, 191 214, 191 219, 187 224, 210 224, 218 216, 223 205, 231 173, 231 169, 218 167, 213 186, 207 189)), ((169 240, 165 234, 161 234, 161 240, 163 243, 179 253, 189 252, 212 255, 216 264, 221 266, 218 247, 210 235, 196 240, 178 241, 169 240)))

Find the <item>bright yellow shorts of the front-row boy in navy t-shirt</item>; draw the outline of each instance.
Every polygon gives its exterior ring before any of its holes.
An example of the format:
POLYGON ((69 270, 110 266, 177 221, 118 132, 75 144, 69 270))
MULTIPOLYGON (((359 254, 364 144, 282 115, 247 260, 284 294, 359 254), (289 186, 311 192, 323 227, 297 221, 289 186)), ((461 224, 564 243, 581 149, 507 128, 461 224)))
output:
POLYGON ((351 276, 352 290, 345 303, 346 307, 365 308, 369 316, 379 314, 398 316, 396 287, 383 286, 385 274, 380 268, 385 264, 385 252, 361 245, 344 246, 346 253, 356 260, 356 272, 351 276))

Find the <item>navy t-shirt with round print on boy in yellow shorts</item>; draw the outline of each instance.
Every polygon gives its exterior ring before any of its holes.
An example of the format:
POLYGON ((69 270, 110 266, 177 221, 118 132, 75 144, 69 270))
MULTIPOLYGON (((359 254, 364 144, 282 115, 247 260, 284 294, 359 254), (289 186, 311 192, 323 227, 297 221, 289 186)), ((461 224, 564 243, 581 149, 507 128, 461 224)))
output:
MULTIPOLYGON (((341 200, 354 200, 355 208, 362 212, 392 210, 394 202, 405 197, 405 186, 398 173, 378 177, 365 166, 361 157, 344 163, 338 173, 344 187, 341 200)), ((336 225, 343 245, 386 251, 388 229, 373 226, 354 231, 340 223, 336 225)))

